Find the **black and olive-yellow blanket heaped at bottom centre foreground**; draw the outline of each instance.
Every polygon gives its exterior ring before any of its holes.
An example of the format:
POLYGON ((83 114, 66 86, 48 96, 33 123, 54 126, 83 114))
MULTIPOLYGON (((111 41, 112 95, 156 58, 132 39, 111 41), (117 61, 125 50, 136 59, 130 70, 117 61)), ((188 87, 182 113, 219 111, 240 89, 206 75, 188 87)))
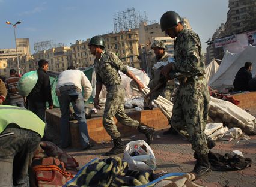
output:
POLYGON ((129 170, 121 158, 109 157, 89 162, 65 186, 141 186, 158 177, 153 170, 129 170))

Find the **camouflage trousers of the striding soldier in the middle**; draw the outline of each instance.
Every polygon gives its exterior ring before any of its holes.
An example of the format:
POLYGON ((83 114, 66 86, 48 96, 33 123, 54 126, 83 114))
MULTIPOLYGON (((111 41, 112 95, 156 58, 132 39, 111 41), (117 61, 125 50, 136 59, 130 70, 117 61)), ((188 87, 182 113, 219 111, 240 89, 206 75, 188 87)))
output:
POLYGON ((124 113, 124 97, 124 88, 108 89, 103 114, 103 126, 112 139, 120 137, 120 132, 114 122, 114 116, 117 118, 118 122, 125 126, 130 126, 135 129, 139 126, 138 121, 133 120, 124 113))

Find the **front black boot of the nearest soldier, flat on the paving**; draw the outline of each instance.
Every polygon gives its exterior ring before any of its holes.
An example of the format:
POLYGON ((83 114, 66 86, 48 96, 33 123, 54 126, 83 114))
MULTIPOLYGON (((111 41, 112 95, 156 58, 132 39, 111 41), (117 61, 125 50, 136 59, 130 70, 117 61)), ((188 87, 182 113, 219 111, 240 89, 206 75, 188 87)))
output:
POLYGON ((208 154, 206 155, 197 155, 197 164, 195 164, 195 167, 192 172, 194 172, 197 177, 201 177, 204 174, 208 173, 211 170, 211 165, 208 161, 208 154))

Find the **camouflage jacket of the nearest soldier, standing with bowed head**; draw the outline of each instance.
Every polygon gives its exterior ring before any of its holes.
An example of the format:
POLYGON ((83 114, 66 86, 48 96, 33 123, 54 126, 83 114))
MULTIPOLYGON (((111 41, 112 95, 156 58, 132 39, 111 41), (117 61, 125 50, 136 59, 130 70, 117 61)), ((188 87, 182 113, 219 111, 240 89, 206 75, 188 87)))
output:
POLYGON ((174 41, 174 70, 190 72, 192 76, 204 74, 204 57, 200 39, 190 29, 183 29, 174 41))

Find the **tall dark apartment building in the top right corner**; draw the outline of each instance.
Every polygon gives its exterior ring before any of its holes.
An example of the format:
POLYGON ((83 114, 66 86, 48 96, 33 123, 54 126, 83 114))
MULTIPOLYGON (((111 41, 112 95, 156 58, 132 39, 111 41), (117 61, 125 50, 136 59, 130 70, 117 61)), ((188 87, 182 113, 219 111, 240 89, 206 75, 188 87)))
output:
POLYGON ((229 0, 225 34, 237 34, 256 28, 256 0, 229 0))

